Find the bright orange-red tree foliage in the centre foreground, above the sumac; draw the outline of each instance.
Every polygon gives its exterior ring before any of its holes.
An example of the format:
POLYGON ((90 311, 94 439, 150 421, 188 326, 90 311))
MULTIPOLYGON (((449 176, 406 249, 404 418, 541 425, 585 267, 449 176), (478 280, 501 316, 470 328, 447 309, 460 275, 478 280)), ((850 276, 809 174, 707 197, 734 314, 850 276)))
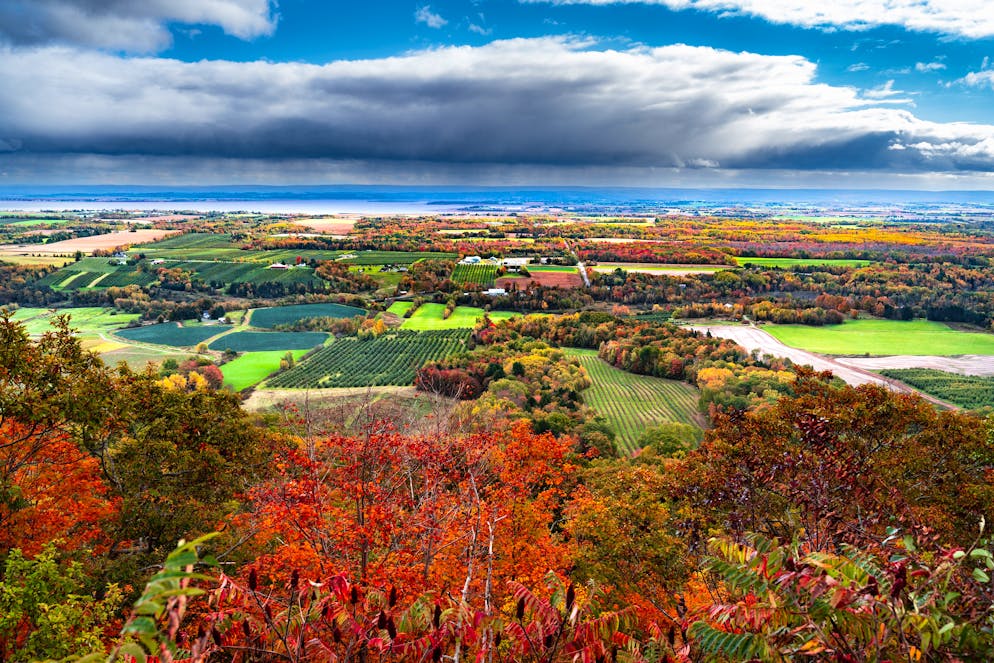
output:
POLYGON ((346 569, 406 596, 498 592, 508 579, 537 583, 569 566, 569 546, 552 531, 573 470, 569 448, 525 422, 502 434, 308 442, 251 491, 237 524, 270 546, 251 565, 270 582, 346 569))

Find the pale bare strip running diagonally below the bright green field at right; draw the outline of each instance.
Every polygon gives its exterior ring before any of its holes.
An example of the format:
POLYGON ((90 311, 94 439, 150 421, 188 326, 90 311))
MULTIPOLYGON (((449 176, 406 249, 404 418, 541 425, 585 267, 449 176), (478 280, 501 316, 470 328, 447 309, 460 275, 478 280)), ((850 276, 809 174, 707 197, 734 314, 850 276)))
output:
POLYGON ((760 355, 769 354, 774 357, 790 359, 795 364, 800 366, 811 366, 816 371, 831 371, 846 384, 850 384, 854 387, 858 387, 862 384, 876 384, 899 393, 918 394, 930 403, 940 407, 950 410, 959 409, 952 403, 947 403, 946 401, 935 398, 934 396, 930 396, 904 384, 903 382, 891 380, 883 377, 882 375, 877 375, 876 373, 873 373, 865 368, 847 365, 832 357, 826 357, 824 355, 784 345, 779 340, 757 327, 745 325, 714 325, 700 327, 690 326, 689 329, 693 329, 701 333, 711 332, 712 336, 718 336, 719 338, 727 338, 735 341, 749 352, 758 350, 760 355))

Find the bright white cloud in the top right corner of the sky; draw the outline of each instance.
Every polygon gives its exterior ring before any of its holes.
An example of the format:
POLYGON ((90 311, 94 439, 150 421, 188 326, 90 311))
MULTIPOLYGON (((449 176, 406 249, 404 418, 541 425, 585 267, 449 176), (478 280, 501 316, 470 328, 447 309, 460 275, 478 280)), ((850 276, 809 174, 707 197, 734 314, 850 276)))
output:
POLYGON ((520 0, 558 5, 656 4, 673 10, 758 16, 805 28, 866 30, 897 25, 971 39, 994 36, 989 0, 520 0))

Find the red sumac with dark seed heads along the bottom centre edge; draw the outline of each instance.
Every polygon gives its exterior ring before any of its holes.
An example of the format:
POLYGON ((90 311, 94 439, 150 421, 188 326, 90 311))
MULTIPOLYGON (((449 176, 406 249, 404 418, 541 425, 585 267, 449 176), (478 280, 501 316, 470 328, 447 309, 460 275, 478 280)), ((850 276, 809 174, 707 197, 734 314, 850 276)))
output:
POLYGON ((321 582, 294 574, 277 587, 222 576, 212 596, 215 646, 237 661, 664 661, 666 637, 629 609, 608 610, 593 586, 555 574, 535 593, 510 583, 505 606, 423 594, 402 605, 397 588, 321 582))

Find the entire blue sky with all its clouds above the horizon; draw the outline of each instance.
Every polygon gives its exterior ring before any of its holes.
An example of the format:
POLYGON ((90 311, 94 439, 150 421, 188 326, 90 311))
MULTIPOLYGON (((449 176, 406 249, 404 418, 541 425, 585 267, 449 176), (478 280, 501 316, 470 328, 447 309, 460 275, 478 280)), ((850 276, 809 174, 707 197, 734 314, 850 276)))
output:
POLYGON ((989 0, 2 0, 0 185, 994 189, 989 0))

